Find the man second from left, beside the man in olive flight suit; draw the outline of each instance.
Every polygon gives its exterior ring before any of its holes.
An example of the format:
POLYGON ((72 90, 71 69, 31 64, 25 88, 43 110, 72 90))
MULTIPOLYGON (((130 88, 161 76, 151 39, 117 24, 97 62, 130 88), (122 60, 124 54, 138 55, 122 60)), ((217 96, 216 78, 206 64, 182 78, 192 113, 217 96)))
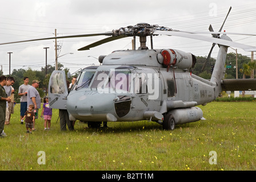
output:
MULTIPOLYGON (((5 88, 5 92, 8 98, 11 97, 11 90, 12 90, 11 85, 13 85, 14 82, 15 82, 14 77, 7 77, 6 85, 3 86, 3 88, 5 88)), ((8 102, 8 105, 6 107, 5 125, 10 124, 10 118, 11 118, 10 111, 11 111, 11 102, 8 102)))

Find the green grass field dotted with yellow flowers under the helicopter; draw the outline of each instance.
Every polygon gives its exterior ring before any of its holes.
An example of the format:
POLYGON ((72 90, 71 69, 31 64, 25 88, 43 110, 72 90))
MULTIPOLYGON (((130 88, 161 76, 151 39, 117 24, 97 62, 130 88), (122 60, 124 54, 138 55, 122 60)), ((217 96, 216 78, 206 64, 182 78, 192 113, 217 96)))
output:
POLYGON ((26 134, 17 104, 5 126, 7 137, 0 138, 0 170, 253 171, 255 106, 255 102, 211 102, 200 106, 206 120, 173 131, 148 121, 109 122, 108 129, 88 129, 77 121, 75 131, 60 131, 58 110, 53 110, 49 131, 37 119, 37 130, 26 134))

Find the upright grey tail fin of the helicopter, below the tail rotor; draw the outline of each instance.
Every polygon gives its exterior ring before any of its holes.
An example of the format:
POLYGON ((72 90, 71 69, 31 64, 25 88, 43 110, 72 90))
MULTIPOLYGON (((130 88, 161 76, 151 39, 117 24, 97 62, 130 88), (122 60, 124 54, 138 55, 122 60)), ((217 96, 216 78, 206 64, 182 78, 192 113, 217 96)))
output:
MULTIPOLYGON (((222 35, 221 39, 232 41, 227 35, 222 35)), ((213 74, 211 75, 211 82, 216 85, 215 88, 215 96, 217 97, 219 93, 221 93, 221 80, 223 78, 223 74, 225 74, 225 61, 227 57, 227 46, 219 45, 219 52, 217 56, 216 63, 214 65, 213 74)))

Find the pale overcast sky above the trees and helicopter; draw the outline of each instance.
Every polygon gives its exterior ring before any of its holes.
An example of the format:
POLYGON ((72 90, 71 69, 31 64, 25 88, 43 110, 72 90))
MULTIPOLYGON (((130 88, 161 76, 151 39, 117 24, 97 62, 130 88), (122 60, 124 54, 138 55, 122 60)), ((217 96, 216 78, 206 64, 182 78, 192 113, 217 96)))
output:
MULTIPOLYGON (((223 30, 256 34, 255 0, 0 0, 0 2, 0 43, 53 37, 55 29, 58 36, 91 34, 141 22, 183 31, 209 31, 209 25, 212 24, 214 30, 218 31, 230 6, 232 10, 223 30)), ((117 49, 131 49, 130 37, 102 44, 89 51, 77 51, 104 38, 106 36, 59 39, 58 61, 65 68, 70 68, 70 72, 73 73, 90 64, 99 64, 94 57, 107 55, 117 49)), ((230 38, 234 42, 256 46, 256 38, 253 36, 230 35, 230 38)), ((173 36, 154 36, 153 39, 154 48, 180 49, 195 56, 207 56, 211 48, 211 43, 199 40, 173 36)), ((150 44, 150 41, 147 43, 150 44)), ((13 69, 21 68, 41 69, 46 63, 44 47, 49 47, 47 64, 55 67, 54 44, 54 40, 43 40, 0 46, 0 69, 2 65, 3 74, 9 74, 7 52, 13 52, 11 72, 13 69)), ((139 41, 137 41, 138 46, 139 41)), ((217 52, 218 46, 215 46, 212 57, 217 57, 217 52)), ((229 48, 229 52, 235 51, 229 48)), ((244 52, 239 48, 238 53, 251 56, 250 52, 244 52)))

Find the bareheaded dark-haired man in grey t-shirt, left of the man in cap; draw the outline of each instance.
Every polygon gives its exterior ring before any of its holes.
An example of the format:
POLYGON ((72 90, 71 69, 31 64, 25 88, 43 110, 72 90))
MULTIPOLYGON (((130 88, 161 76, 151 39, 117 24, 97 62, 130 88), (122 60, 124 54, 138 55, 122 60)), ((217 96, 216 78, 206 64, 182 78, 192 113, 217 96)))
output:
MULTIPOLYGON (((29 78, 23 78, 24 84, 19 86, 19 96, 21 96, 21 119, 24 117, 25 112, 27 110, 27 90, 29 90, 29 78)), ((23 121, 21 122, 23 124, 23 121)))

